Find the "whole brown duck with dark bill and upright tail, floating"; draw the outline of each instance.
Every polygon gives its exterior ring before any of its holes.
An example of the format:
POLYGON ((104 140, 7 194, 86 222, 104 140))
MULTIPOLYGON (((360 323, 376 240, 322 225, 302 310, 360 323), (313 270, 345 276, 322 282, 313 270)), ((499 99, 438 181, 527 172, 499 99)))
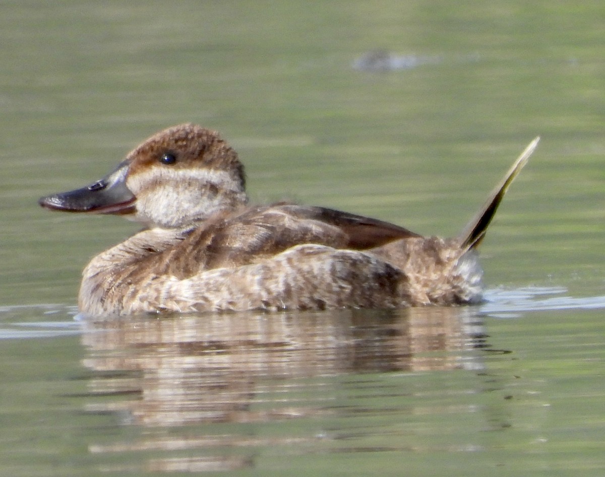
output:
POLYGON ((251 204, 237 152, 192 123, 154 134, 102 179, 39 205, 143 225, 84 268, 83 315, 473 304, 483 291, 477 247, 539 139, 453 238, 321 206, 251 204))

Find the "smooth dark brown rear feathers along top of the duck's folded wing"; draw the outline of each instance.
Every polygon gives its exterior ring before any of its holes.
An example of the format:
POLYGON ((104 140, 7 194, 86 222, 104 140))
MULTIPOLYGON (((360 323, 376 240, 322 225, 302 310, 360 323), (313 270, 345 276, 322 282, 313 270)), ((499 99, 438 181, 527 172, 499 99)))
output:
POLYGON ((348 237, 346 248, 350 249, 365 250, 402 238, 420 237, 389 222, 325 207, 287 204, 279 207, 299 219, 313 220, 339 229, 348 237))

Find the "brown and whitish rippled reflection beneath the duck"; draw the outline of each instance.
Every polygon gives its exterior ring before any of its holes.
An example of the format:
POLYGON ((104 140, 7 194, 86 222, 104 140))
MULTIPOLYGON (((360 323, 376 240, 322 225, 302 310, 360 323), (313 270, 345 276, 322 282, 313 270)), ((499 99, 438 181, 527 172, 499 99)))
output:
MULTIPOLYGON (((156 430, 331 415, 334 407, 316 397, 309 378, 479 369, 469 352, 483 346, 474 312, 469 307, 430 307, 88 319, 83 321, 82 340, 89 350, 84 364, 95 372, 91 393, 106 401, 89 410, 115 412, 123 424, 156 430)), ((326 383, 324 379, 321 385, 326 383)), ((188 429, 169 438, 162 432, 146 433, 144 441, 96 445, 91 452, 208 452, 218 446, 241 449, 325 439, 262 439, 242 433, 191 437, 188 429)), ((146 468, 198 472, 252 464, 252 457, 240 451, 234 456, 154 458, 146 468)))

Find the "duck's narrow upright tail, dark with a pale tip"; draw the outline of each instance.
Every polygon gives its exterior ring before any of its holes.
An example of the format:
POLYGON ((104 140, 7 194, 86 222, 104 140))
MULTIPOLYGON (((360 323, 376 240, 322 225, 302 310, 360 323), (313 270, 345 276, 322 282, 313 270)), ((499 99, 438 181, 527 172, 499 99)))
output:
POLYGON ((473 217, 468 225, 466 225, 462 234, 460 234, 460 248, 466 251, 472 248, 476 248, 487 231, 489 222, 494 218, 495 211, 498 209, 500 202, 506 194, 506 189, 511 185, 512 181, 520 173, 523 166, 528 162, 529 156, 532 155, 536 146, 540 142, 540 136, 536 137, 529 145, 525 148, 525 151, 515 160, 515 163, 508 170, 502 182, 495 186, 494 190, 489 194, 488 200, 480 211, 473 217))

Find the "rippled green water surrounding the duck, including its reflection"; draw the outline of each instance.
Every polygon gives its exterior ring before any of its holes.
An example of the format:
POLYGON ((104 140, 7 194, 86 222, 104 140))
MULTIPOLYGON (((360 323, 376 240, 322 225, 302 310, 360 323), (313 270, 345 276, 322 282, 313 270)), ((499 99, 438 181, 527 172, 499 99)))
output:
POLYGON ((602 8, 5 2, 0 474, 603 475, 602 8), (353 67, 374 51, 405 68, 353 67), (74 320, 83 266, 136 226, 36 200, 185 121, 255 200, 439 235, 542 141, 483 306, 74 320))

